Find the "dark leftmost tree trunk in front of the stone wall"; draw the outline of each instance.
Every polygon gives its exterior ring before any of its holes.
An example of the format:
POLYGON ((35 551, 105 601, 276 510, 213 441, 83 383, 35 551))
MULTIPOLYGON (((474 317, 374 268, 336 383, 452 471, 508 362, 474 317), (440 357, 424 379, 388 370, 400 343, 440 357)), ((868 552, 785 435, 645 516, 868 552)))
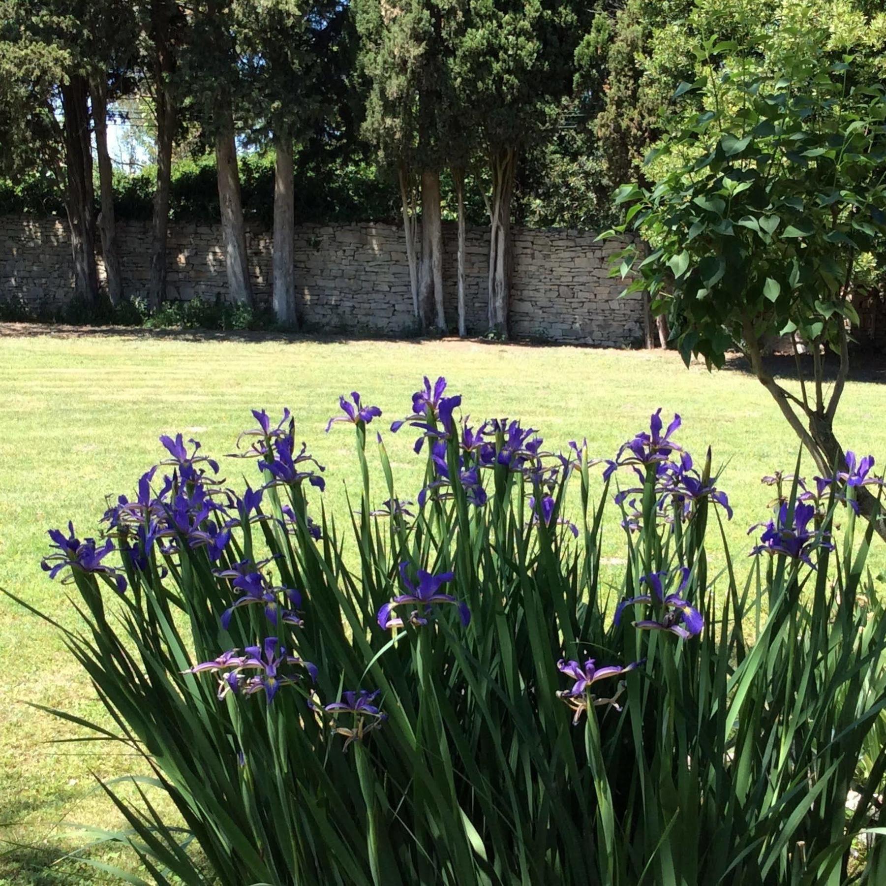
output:
POLYGON ((61 86, 67 171, 65 204, 74 258, 74 294, 95 305, 98 274, 92 217, 92 153, 84 150, 89 148, 88 93, 86 78, 81 74, 75 74, 61 86))

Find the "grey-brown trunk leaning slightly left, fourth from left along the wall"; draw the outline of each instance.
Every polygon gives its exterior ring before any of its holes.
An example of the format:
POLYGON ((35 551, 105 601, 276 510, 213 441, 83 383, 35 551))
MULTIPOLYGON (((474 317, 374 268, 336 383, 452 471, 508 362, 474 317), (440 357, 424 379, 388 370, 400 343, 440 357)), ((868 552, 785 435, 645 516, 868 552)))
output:
POLYGON ((215 133, 215 165, 218 170, 221 235, 224 239, 225 270, 228 289, 234 302, 253 303, 246 255, 246 230, 243 202, 240 200, 240 171, 237 169, 237 144, 234 140, 234 115, 229 101, 222 101, 215 133))

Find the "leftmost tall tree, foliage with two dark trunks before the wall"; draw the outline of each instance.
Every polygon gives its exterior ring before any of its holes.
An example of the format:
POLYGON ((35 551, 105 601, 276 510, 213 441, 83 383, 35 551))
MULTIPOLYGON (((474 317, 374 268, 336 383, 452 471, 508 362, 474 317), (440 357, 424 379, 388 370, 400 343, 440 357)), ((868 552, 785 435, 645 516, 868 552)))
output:
POLYGON ((102 187, 102 239, 110 295, 120 299, 113 237, 113 192, 102 153, 110 80, 126 67, 132 17, 119 0, 5 0, 0 4, 0 170, 6 176, 47 177, 64 205, 74 258, 74 291, 98 298, 91 122, 97 120, 102 187), (90 93, 93 105, 90 108, 90 93), (96 99, 99 99, 97 102, 96 99), (96 112, 98 111, 98 114, 96 112))

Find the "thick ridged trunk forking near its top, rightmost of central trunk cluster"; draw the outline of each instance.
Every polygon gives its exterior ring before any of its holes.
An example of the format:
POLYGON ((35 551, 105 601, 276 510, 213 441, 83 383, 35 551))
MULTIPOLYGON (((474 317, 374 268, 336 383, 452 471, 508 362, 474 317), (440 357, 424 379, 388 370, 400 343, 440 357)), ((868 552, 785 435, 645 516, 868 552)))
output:
POLYGON ((510 202, 514 194, 517 151, 501 148, 490 157, 493 178, 492 200, 489 202, 489 328, 504 337, 508 335, 510 307, 510 271, 512 244, 510 238, 510 202))

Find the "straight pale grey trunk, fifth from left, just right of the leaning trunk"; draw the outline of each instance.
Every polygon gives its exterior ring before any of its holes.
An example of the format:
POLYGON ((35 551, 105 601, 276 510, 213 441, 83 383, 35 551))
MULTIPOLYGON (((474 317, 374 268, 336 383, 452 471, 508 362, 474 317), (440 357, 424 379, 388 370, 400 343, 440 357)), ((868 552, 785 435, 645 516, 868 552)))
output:
POLYGON ((274 149, 274 257, 271 277, 274 315, 278 323, 295 327, 295 166, 292 140, 275 139, 274 149))

